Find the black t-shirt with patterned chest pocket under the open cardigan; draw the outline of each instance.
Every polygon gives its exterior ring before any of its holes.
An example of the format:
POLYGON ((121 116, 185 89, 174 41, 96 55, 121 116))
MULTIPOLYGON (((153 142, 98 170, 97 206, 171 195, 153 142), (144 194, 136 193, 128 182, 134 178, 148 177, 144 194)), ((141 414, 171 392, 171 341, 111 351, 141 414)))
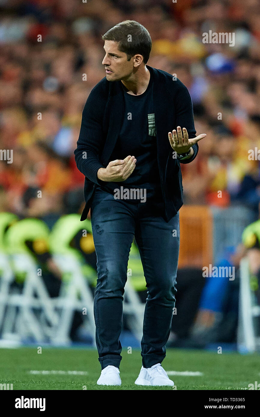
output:
POLYGON ((128 90, 121 83, 124 91, 124 117, 110 161, 131 155, 136 158, 136 167, 125 181, 101 181, 101 189, 114 194, 114 189, 122 186, 124 189, 143 188, 146 189, 146 200, 162 200, 154 121, 154 83, 152 73, 150 74, 148 87, 140 95, 128 94, 128 90))

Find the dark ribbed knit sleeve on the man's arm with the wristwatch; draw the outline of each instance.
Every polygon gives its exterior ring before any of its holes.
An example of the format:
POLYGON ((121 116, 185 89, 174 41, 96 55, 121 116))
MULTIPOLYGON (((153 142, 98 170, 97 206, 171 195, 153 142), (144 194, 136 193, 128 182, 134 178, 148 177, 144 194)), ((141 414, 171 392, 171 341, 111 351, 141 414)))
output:
MULTIPOLYGON (((188 132, 189 139, 196 138, 196 130, 194 126, 194 116, 193 116, 193 106, 192 106, 192 99, 189 95, 189 90, 187 87, 180 83, 180 87, 177 90, 176 96, 175 96, 175 123, 174 123, 174 129, 177 130, 177 126, 180 126, 182 128, 186 128, 188 132)), ((190 163, 192 162, 198 153, 199 146, 197 143, 195 145, 192 145, 192 148, 194 150, 194 154, 192 158, 190 159, 184 159, 184 161, 181 161, 181 163, 190 163)))

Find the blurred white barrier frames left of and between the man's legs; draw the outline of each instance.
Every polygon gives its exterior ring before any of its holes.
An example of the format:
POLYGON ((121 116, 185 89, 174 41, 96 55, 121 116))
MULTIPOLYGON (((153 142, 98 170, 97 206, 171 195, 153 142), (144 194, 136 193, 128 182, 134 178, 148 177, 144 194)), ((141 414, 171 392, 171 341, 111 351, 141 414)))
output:
MULTIPOLYGON (((70 276, 61 284, 58 297, 50 298, 42 276, 37 275, 37 265, 29 254, 8 256, 0 254, 0 329, 2 339, 23 342, 33 338, 35 342, 64 345, 71 342, 69 334, 74 311, 81 311, 86 327, 95 344, 95 320, 93 295, 81 262, 73 255, 54 255, 59 269, 70 276), (23 290, 11 290, 14 279, 12 267, 25 272, 23 290), (35 297, 36 295, 36 297, 35 297)), ((96 271, 94 271, 96 274, 96 271)), ((141 303, 128 277, 125 286, 123 312, 136 339, 141 341, 145 304, 141 303)))

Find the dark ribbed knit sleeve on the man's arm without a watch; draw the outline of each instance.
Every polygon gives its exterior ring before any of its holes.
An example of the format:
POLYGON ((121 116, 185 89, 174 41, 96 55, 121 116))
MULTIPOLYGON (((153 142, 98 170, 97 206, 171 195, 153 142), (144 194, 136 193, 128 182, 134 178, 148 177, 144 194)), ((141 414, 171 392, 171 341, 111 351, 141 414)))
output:
POLYGON ((106 107, 106 98, 103 93, 101 80, 88 96, 82 112, 81 129, 74 151, 76 165, 88 180, 99 184, 97 172, 105 168, 99 161, 105 138, 103 138, 103 115, 106 107))

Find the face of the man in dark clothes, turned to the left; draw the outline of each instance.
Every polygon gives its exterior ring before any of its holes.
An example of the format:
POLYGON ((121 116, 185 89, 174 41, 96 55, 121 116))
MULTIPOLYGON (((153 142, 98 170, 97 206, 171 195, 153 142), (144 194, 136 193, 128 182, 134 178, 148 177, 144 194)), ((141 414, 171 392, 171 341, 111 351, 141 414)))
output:
POLYGON ((127 80, 134 69, 134 57, 128 61, 126 53, 119 51, 117 44, 114 40, 105 40, 104 50, 106 55, 102 65, 106 68, 106 79, 108 81, 127 80))

